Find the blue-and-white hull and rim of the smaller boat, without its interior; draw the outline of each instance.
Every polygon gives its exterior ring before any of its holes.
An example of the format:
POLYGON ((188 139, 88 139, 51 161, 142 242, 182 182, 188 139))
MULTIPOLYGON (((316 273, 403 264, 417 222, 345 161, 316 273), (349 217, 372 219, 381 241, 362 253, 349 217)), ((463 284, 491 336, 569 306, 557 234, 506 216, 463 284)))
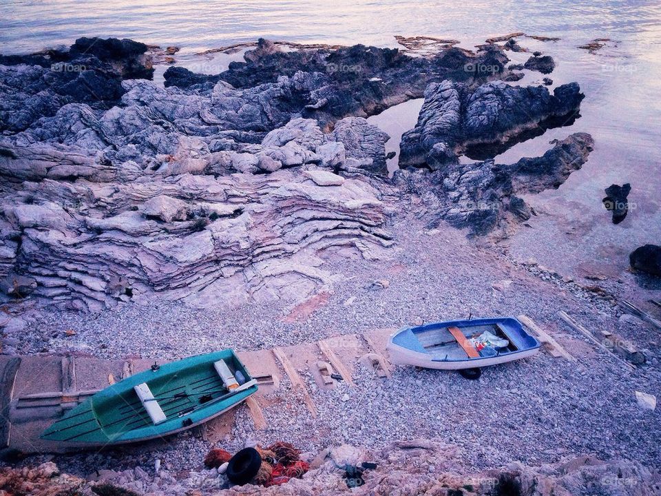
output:
MULTIPOLYGON (((456 343, 454 343, 456 344, 456 343)), ((447 346, 452 343, 448 342, 447 346)), ((523 358, 529 358, 538 353, 541 344, 523 330, 521 322, 515 318, 493 318, 493 319, 474 319, 474 320, 454 320, 447 322, 435 322, 417 327, 403 327, 393 333, 388 340, 388 355, 390 361, 398 365, 419 366, 426 369, 438 370, 462 370, 474 369, 485 366, 514 362, 523 358), (464 333, 470 333, 470 329, 480 329, 499 324, 501 329, 507 332, 507 338, 518 344, 516 351, 508 351, 497 356, 479 356, 477 358, 448 359, 439 355, 434 355, 426 348, 425 340, 421 335, 433 333, 435 330, 447 329, 448 327, 461 327, 464 333)), ((456 344, 454 347, 460 349, 456 344)), ((463 353, 463 352, 461 352, 463 353)))

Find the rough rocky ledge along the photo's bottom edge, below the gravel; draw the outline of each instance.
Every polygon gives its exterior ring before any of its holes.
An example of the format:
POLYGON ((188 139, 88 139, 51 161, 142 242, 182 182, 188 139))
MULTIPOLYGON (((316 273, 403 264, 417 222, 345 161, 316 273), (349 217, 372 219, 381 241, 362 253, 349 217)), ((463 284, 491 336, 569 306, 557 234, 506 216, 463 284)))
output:
MULTIPOLYGON (((52 462, 23 471, 0 468, 0 486, 14 494, 125 495, 374 495, 577 496, 658 494, 660 475, 633 462, 602 462, 582 455, 557 464, 529 467, 513 462, 502 469, 463 473, 453 463, 457 448, 418 439, 396 442, 376 452, 342 445, 311 458, 312 470, 282 486, 227 487, 216 469, 173 477, 167 470, 151 475, 141 468, 98 471, 92 480, 60 473, 52 462), (342 467, 378 460, 358 479, 342 467), (355 484, 353 489, 348 484, 355 484)), ((373 463, 373 462, 368 462, 373 463)), ((371 465, 370 465, 371 466, 371 465)))

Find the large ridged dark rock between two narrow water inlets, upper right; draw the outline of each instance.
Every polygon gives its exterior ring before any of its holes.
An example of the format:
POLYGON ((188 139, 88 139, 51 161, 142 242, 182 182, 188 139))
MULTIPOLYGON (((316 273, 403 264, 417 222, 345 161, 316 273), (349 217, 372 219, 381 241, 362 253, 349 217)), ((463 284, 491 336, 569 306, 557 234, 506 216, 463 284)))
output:
POLYGON ((578 112, 582 99, 577 83, 559 86, 554 94, 545 87, 503 81, 476 90, 448 80, 432 83, 415 127, 402 135, 399 166, 440 167, 443 161, 434 147, 441 146, 451 163, 456 161, 452 154, 469 146, 506 143, 529 130, 563 125, 565 117, 578 112))

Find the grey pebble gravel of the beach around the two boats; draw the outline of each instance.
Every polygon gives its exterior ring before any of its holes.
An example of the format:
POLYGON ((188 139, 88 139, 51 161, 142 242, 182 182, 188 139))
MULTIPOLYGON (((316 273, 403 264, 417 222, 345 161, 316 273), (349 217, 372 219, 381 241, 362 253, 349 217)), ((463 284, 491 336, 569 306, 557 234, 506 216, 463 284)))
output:
MULTIPOLYGON (((366 261, 348 251, 327 254, 325 267, 342 276, 328 302, 306 320, 285 322, 293 307, 285 301, 213 311, 172 302, 126 304, 98 315, 39 311, 23 316, 26 327, 14 344, 19 353, 73 350, 103 358, 174 359, 223 347, 251 350, 314 342, 469 313, 526 313, 555 333, 578 362, 538 353, 487 369, 478 381, 412 367, 397 367, 392 378, 381 380, 358 366, 355 386, 339 382, 331 391, 317 389, 304 371, 317 418, 309 415, 285 378, 262 406, 269 426, 254 431, 247 408, 241 406, 233 432, 219 444, 235 451, 250 440, 264 445, 285 440, 316 452, 342 443, 379 448, 394 440, 428 437, 460 446, 459 463, 466 470, 515 459, 554 462, 578 453, 649 464, 661 460, 659 409, 643 411, 635 397, 635 391, 661 394, 661 356, 653 340, 658 335, 635 320, 620 322, 609 298, 585 293, 560 274, 515 263, 497 249, 466 240, 461 231, 426 231, 406 215, 391 228, 398 244, 388 260, 366 261), (374 285, 377 280, 388 284, 374 285), (502 283, 508 280, 512 282, 502 283), (565 327, 556 318, 560 309, 588 329, 618 330, 638 347, 649 348, 648 364, 623 371, 565 327), (76 333, 66 337, 67 329, 76 333)), ((136 464, 153 471, 155 459, 172 470, 199 469, 210 447, 189 432, 165 444, 56 459, 65 471, 81 475, 136 464)))

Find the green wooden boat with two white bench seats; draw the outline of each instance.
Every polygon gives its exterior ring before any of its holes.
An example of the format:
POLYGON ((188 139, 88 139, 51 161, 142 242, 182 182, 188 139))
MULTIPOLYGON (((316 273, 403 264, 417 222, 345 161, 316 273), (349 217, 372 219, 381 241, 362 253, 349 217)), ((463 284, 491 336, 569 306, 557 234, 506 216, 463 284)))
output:
POLYGON ((99 391, 46 429, 65 444, 145 441, 191 428, 257 391, 231 349, 152 366, 99 391))

